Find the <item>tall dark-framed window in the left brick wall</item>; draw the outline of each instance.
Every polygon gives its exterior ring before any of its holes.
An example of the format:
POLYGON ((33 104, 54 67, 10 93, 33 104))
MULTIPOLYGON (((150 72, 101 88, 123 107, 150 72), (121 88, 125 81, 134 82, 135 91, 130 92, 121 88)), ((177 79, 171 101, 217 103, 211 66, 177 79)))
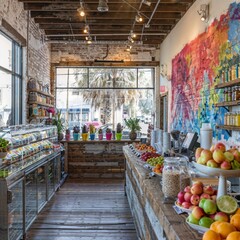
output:
POLYGON ((22 48, 0 31, 0 127, 22 123, 22 48))

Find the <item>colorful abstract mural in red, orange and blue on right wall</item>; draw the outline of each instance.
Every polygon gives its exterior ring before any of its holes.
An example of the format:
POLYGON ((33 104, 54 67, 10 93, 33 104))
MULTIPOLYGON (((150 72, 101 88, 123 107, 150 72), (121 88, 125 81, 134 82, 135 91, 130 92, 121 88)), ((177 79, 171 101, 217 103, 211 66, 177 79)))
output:
POLYGON ((221 70, 240 62, 240 3, 232 3, 226 14, 206 32, 185 45, 172 60, 171 128, 200 133, 202 123, 209 122, 214 136, 223 124, 226 109, 215 107, 222 101, 223 90, 215 90, 221 70))

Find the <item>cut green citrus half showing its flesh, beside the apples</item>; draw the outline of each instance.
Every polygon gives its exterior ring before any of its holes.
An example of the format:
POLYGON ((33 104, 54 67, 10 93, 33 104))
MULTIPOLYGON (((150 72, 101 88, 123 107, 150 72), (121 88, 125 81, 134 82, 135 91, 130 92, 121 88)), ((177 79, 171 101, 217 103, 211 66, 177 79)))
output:
POLYGON ((238 203, 234 197, 223 195, 217 199, 217 207, 221 212, 233 214, 238 209, 238 203))

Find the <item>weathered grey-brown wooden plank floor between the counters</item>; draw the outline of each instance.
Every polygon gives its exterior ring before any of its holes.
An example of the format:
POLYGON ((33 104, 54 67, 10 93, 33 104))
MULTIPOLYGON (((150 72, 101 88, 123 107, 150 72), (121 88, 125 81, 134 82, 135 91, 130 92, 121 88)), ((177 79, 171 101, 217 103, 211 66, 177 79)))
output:
POLYGON ((67 180, 27 240, 137 240, 123 180, 67 180))

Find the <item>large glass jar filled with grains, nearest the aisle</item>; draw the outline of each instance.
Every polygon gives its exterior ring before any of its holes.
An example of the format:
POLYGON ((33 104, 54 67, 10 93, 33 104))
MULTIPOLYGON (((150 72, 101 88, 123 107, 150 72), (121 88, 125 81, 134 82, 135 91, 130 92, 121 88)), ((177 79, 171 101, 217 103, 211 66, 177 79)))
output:
POLYGON ((164 159, 162 171, 162 192, 164 202, 173 203, 180 191, 179 158, 167 157, 164 159))

